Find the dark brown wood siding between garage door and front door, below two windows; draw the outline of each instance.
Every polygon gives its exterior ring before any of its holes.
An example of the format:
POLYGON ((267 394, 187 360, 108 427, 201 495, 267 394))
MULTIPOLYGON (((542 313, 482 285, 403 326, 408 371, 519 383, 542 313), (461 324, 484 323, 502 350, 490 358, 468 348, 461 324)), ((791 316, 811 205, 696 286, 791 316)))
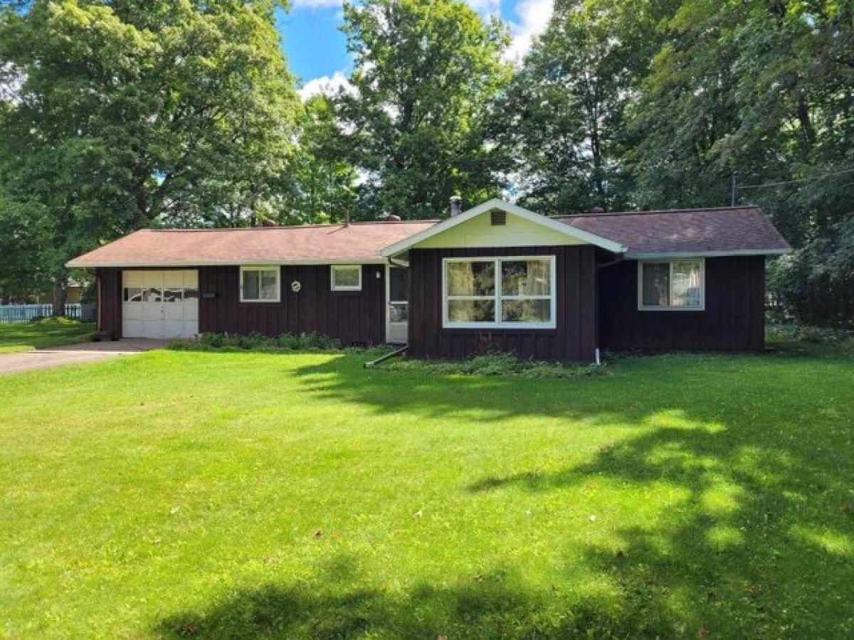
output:
POLYGON ((283 266, 278 303, 240 302, 239 278, 237 266, 199 267, 199 331, 265 335, 316 331, 348 345, 385 341, 383 265, 363 265, 362 290, 348 292, 330 290, 328 265, 283 266), (295 280, 302 285, 297 294, 290 288, 295 280))

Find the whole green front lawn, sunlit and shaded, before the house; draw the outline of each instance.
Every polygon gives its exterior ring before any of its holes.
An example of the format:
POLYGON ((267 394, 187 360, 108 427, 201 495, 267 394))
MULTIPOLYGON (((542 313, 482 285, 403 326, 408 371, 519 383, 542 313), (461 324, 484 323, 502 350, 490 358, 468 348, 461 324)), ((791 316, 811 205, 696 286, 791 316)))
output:
POLYGON ((851 637, 851 350, 0 378, 0 635, 851 637))

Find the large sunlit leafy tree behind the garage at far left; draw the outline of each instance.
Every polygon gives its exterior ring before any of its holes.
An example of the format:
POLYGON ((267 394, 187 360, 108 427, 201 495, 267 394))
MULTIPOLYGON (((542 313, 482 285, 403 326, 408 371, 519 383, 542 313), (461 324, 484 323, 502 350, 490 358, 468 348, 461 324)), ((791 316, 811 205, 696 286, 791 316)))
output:
POLYGON ((33 0, 0 10, 0 84, 15 86, 0 108, 0 179, 44 211, 55 311, 74 254, 150 224, 245 224, 272 197, 298 108, 273 8, 33 0))

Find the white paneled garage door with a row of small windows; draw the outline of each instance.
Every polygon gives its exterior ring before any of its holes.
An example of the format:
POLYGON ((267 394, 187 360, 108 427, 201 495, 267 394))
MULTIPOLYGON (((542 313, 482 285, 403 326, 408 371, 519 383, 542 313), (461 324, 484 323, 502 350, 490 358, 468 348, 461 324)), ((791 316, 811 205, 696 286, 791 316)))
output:
POLYGON ((198 271, 124 271, 121 334, 192 338, 199 333, 198 271))

